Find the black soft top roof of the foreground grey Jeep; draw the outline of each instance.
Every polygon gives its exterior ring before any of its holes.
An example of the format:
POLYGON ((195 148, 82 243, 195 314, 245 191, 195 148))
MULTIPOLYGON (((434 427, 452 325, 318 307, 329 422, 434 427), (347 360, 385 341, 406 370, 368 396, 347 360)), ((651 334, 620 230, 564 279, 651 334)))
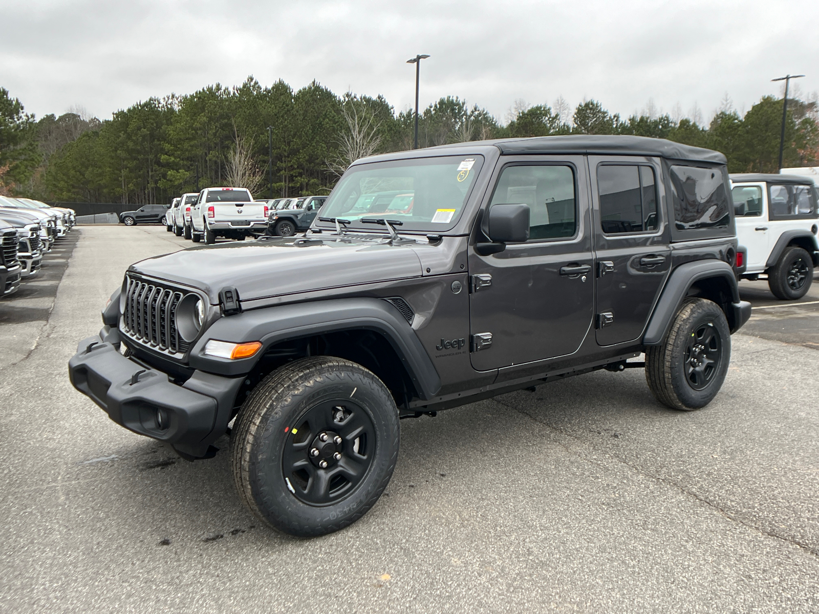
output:
POLYGON ((696 160, 724 165, 725 156, 719 151, 691 147, 664 138, 634 137, 628 134, 572 134, 563 137, 501 138, 492 141, 454 143, 430 149, 494 145, 506 155, 519 154, 622 154, 659 156, 672 160, 696 160))

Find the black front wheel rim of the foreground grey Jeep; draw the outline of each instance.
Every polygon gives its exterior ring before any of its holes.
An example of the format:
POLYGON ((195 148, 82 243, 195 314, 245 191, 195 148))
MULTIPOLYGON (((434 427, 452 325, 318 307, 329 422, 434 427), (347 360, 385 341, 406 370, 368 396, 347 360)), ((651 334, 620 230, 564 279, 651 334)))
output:
POLYGON ((282 473, 287 490, 316 507, 349 497, 375 457, 373 420, 349 400, 314 405, 294 427, 287 427, 285 437, 282 473))

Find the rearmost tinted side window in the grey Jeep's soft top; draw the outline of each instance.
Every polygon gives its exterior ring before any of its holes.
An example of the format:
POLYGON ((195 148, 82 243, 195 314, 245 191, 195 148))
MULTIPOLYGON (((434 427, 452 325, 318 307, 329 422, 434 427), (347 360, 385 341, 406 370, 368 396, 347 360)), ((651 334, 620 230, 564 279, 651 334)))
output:
POLYGON ((677 230, 726 228, 731 223, 722 169, 672 166, 671 187, 677 230))

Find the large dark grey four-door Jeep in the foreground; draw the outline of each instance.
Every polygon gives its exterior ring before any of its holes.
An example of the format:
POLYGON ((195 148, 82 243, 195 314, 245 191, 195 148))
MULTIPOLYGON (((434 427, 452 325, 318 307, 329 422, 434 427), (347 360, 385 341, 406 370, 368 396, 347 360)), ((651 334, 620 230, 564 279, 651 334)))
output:
POLYGON ((736 251, 715 151, 577 136, 375 156, 305 237, 133 264, 70 377, 183 458, 230 433, 247 506, 320 535, 378 500, 399 418, 603 368, 708 404, 750 315, 736 251))

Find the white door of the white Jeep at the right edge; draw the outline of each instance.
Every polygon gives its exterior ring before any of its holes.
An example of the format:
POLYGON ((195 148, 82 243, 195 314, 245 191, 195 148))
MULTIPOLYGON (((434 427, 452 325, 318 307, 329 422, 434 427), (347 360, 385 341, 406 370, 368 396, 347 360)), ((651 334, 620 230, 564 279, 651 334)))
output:
POLYGON ((736 212, 736 238, 748 250, 745 270, 760 273, 771 251, 772 232, 765 208, 764 183, 735 183, 731 189, 736 212))

